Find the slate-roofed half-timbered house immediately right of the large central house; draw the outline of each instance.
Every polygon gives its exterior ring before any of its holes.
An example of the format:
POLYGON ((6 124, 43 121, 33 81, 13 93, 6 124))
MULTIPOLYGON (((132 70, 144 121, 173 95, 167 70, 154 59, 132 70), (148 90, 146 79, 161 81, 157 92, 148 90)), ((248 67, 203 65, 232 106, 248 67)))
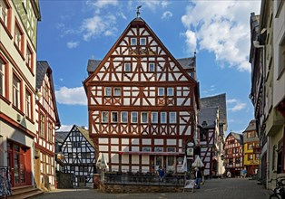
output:
POLYGON ((199 111, 201 160, 204 175, 214 177, 224 173, 223 146, 227 129, 226 95, 201 98, 199 111))

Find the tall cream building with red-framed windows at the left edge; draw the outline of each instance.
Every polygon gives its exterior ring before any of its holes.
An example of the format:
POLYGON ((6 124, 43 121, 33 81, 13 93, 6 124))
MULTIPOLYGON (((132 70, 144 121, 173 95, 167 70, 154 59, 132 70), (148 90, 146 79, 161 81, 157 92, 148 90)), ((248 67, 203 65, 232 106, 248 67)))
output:
POLYGON ((34 185, 37 0, 0 1, 0 166, 34 185))

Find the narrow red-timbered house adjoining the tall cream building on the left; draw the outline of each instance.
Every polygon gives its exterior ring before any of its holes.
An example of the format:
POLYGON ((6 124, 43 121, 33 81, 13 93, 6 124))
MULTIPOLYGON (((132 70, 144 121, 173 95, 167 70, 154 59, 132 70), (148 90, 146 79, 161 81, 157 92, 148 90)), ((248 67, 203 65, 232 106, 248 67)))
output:
POLYGON ((60 128, 52 69, 46 61, 36 62, 34 137, 34 181, 38 188, 55 187, 54 132, 60 128))

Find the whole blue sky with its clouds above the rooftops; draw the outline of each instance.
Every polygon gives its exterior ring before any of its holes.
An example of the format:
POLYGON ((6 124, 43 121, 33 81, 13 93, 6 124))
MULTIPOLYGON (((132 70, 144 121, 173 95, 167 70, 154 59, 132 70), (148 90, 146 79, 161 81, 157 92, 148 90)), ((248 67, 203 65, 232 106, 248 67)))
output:
POLYGON ((226 93, 228 130, 253 118, 250 16, 256 1, 41 0, 37 60, 53 69, 61 130, 88 127, 83 81, 89 59, 102 60, 143 5, 141 17, 175 58, 197 54, 201 97, 226 93))

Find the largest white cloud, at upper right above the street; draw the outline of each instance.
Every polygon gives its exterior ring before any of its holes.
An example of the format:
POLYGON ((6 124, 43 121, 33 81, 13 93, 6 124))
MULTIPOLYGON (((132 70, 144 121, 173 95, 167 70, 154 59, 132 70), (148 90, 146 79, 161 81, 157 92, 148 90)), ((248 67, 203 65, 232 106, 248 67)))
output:
POLYGON ((258 13, 260 1, 192 1, 182 15, 187 34, 195 30, 199 50, 215 54, 217 62, 228 63, 238 71, 251 71, 248 62, 250 52, 250 14, 258 13))

